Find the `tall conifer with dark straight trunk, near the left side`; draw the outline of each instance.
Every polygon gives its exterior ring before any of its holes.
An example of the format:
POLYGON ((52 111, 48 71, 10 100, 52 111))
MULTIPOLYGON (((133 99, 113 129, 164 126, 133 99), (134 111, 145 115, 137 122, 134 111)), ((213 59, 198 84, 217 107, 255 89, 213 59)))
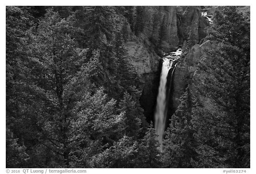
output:
MULTIPOLYGON (((63 159, 58 166, 69 166, 70 162, 70 122, 75 117, 71 112, 74 101, 68 98, 70 95, 66 90, 68 82, 81 66, 82 57, 77 52, 77 43, 73 37, 76 28, 73 25, 73 16, 61 19, 58 12, 48 9, 39 23, 31 48, 34 50, 33 59, 38 65, 32 69, 33 81, 40 94, 39 104, 45 106, 36 107, 34 120, 38 135, 33 138, 54 152, 53 158, 63 159)), ((52 163, 46 160, 45 164, 52 163)))

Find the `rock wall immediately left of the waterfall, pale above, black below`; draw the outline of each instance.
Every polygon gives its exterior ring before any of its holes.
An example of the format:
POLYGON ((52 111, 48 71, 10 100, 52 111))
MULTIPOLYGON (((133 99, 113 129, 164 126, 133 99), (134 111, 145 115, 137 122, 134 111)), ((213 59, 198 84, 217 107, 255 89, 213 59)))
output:
POLYGON ((142 95, 140 104, 144 108, 144 114, 148 122, 153 120, 154 108, 160 79, 160 57, 147 50, 140 42, 130 41, 126 43, 130 62, 140 76, 142 82, 142 95))

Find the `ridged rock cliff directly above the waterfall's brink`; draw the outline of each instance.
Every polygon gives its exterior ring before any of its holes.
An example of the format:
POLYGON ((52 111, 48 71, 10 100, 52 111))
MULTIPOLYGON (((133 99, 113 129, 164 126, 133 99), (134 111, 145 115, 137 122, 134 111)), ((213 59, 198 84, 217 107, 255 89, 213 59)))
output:
POLYGON ((160 25, 163 26, 158 26, 156 30, 159 31, 159 38, 162 34, 163 42, 160 42, 160 47, 164 52, 176 50, 187 39, 200 43, 206 37, 209 22, 201 16, 201 11, 196 6, 160 7, 159 11, 160 25))

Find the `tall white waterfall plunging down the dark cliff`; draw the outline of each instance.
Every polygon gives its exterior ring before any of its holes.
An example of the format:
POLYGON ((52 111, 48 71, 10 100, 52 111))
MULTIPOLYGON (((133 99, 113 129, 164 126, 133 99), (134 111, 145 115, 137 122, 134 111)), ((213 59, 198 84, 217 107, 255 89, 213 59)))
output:
POLYGON ((160 75, 160 84, 158 88, 158 95, 156 100, 156 111, 155 111, 155 129, 156 129, 156 134, 158 135, 157 139, 160 143, 161 152, 163 151, 162 141, 164 138, 164 129, 165 129, 165 122, 167 117, 168 97, 166 94, 168 94, 170 90, 170 89, 167 89, 167 76, 168 76, 169 70, 172 69, 171 81, 170 81, 170 83, 172 83, 172 75, 177 65, 175 61, 180 57, 181 53, 182 51, 181 49, 179 49, 176 52, 170 53, 171 55, 168 55, 165 58, 163 58, 162 72, 160 75), (169 58, 172 58, 172 59, 169 59, 169 58))

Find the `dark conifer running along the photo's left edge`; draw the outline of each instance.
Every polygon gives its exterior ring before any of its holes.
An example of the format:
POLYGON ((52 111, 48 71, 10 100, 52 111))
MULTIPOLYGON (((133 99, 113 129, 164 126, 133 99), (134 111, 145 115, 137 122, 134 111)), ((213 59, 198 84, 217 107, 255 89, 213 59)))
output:
MULTIPOLYGON (((17 138, 13 143, 20 149, 35 143, 31 137, 37 133, 33 118, 40 95, 36 93, 31 74, 35 65, 30 50, 33 20, 25 7, 6 7, 6 127, 13 133, 9 136, 17 138)), ((7 153, 11 153, 9 150, 7 153)))

